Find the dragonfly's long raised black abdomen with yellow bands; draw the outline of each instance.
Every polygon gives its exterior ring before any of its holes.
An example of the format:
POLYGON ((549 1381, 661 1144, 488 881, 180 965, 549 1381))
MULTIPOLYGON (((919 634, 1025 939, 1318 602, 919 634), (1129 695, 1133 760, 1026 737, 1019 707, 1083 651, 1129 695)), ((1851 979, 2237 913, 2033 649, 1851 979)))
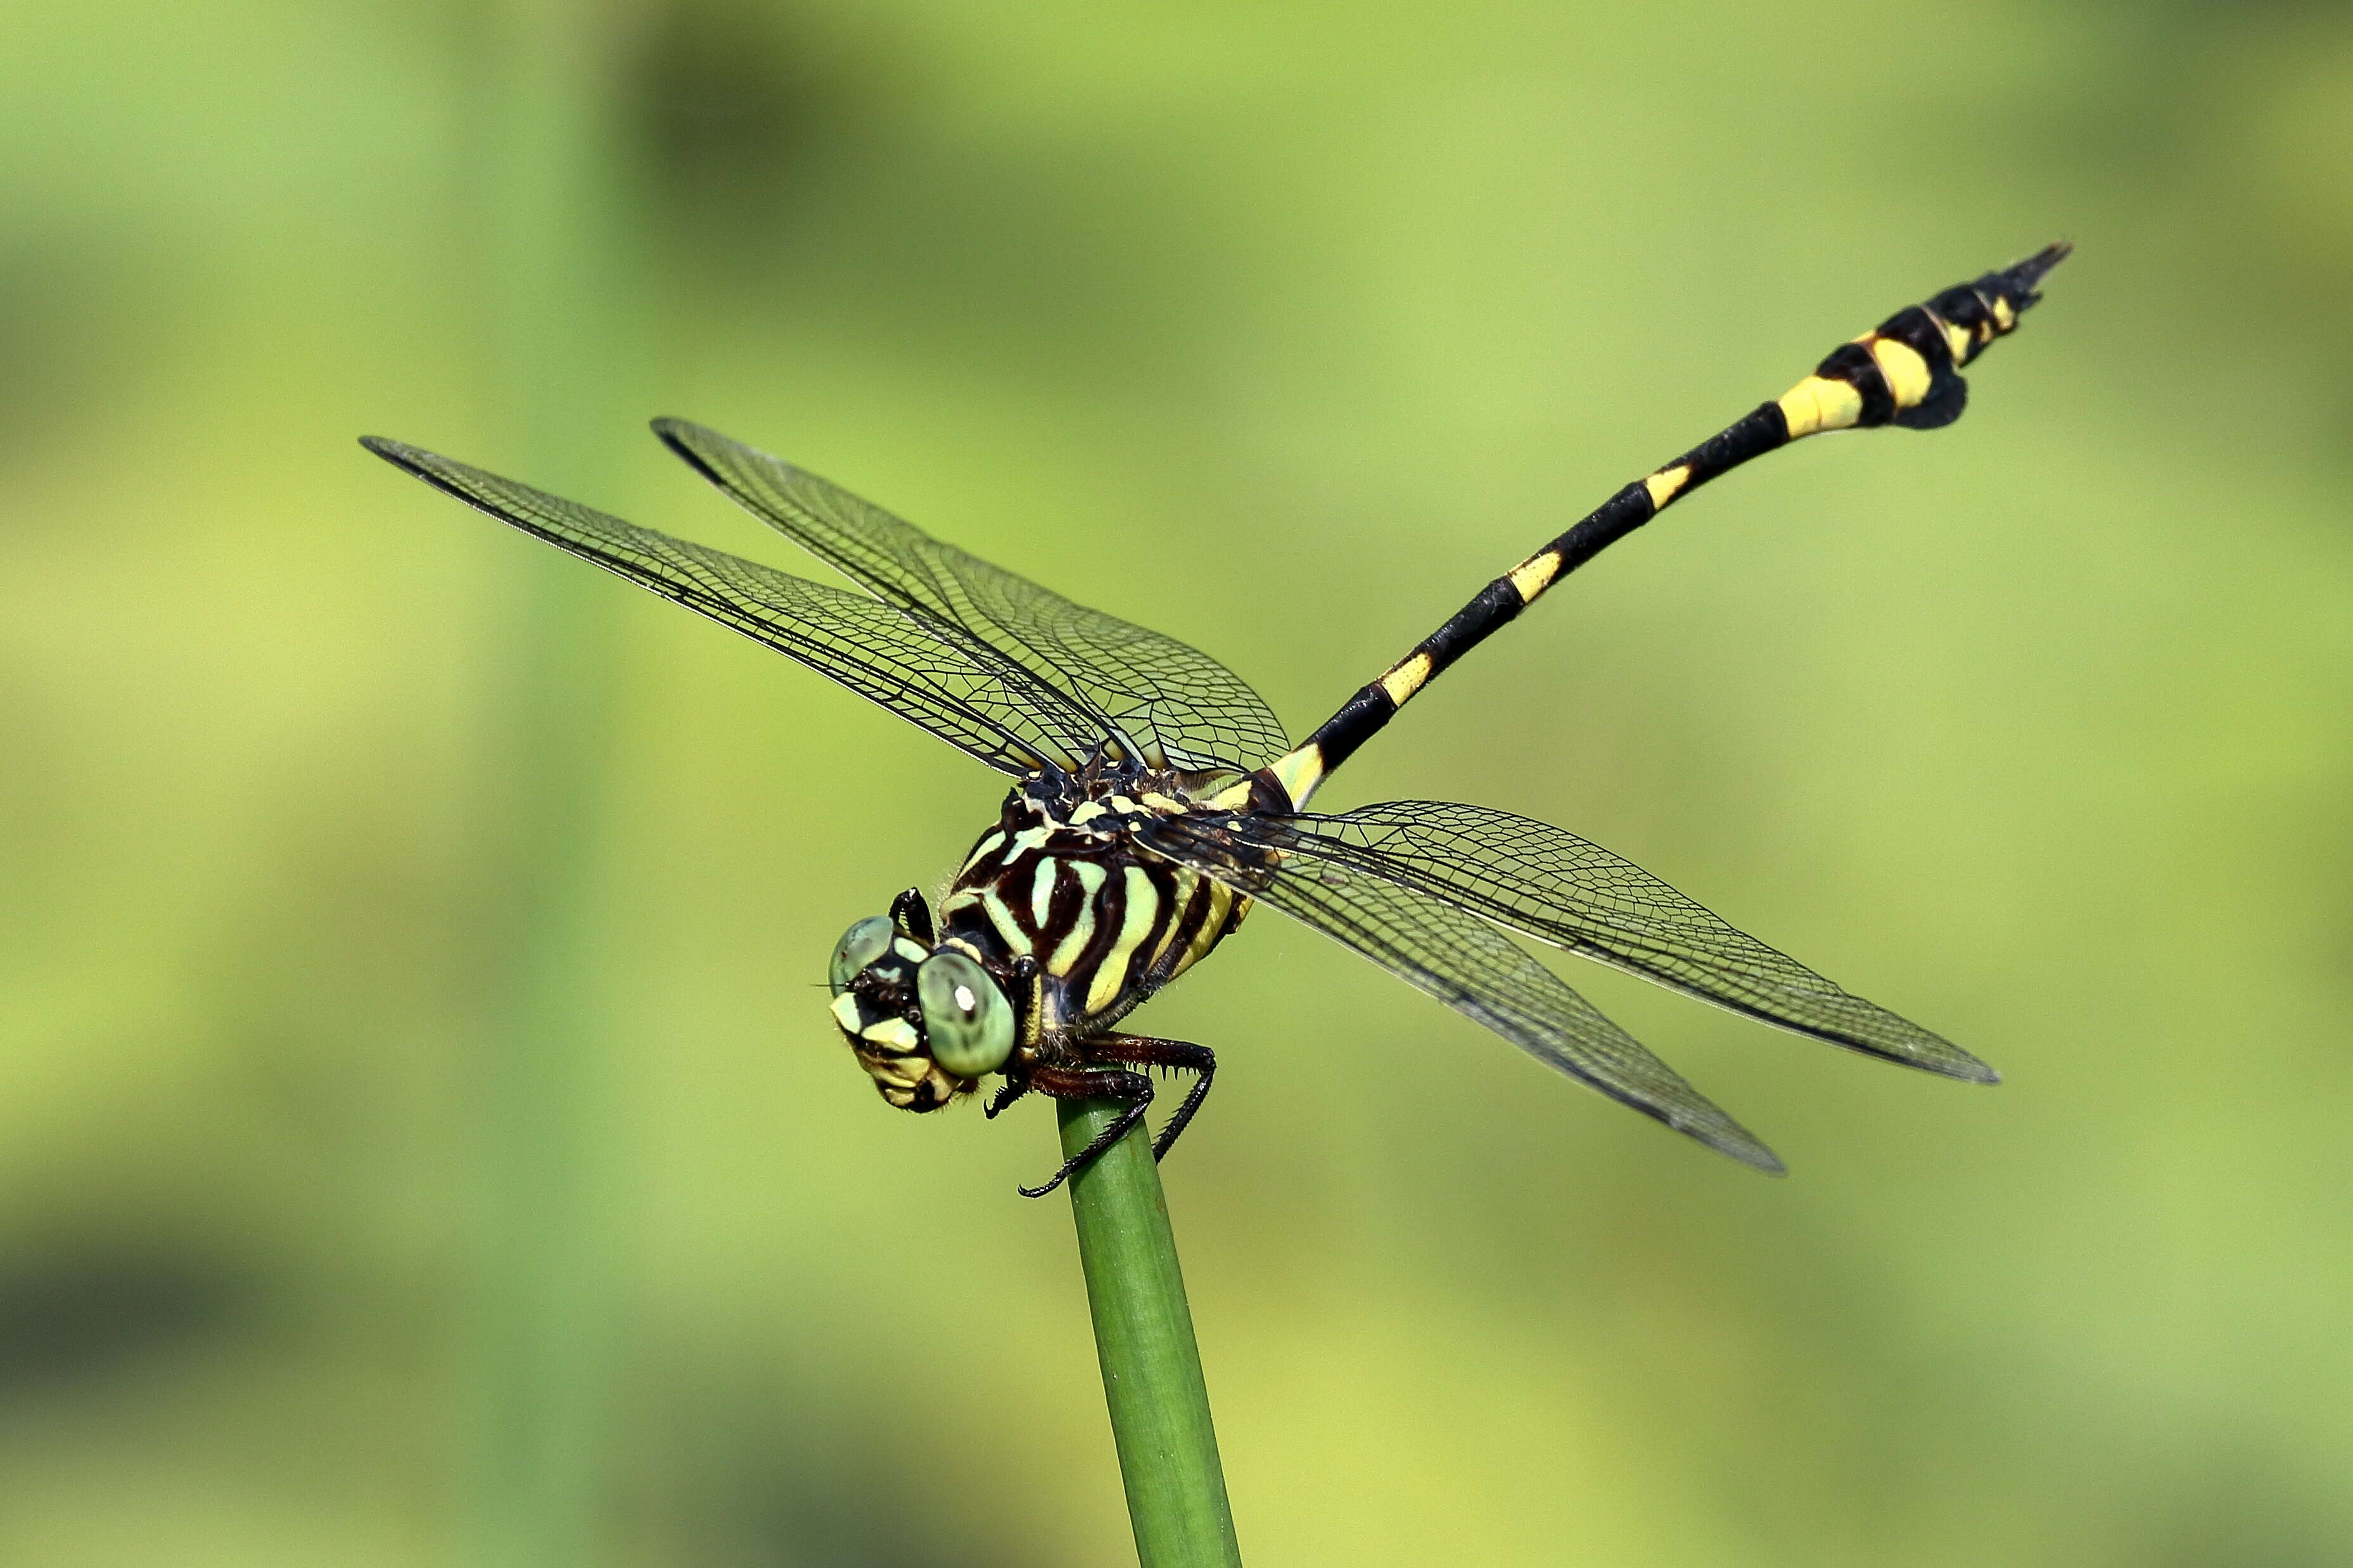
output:
MULTIPOLYGON (((2019 327, 2019 315, 2042 299, 2042 277, 2073 247, 2047 244, 2026 261, 1953 284, 1927 303, 1906 306, 1864 336, 1840 343, 1788 393, 1758 404, 1673 463, 1654 468, 1588 512, 1560 538, 1487 583, 1405 658, 1351 696, 1313 736, 1254 776, 1259 795, 1280 790, 1292 809, 1308 797, 1400 708, 1457 658, 1499 632, 1553 583, 1633 534, 1708 480, 1777 447, 1828 430, 1904 425, 1934 430, 1960 418, 1969 386, 1960 367, 2019 327)), ((1252 783, 1233 785, 1221 804, 1252 799, 1252 783), (1231 797, 1231 799, 1228 799, 1231 797)))

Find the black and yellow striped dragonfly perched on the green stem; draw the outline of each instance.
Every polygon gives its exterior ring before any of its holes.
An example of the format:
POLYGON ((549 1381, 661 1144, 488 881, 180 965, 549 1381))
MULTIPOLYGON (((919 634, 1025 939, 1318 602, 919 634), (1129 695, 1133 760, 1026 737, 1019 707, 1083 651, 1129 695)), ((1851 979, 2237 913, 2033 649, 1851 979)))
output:
POLYGON ((1569 1079, 1758 1171, 1781 1161, 1520 940, 1572 952, 1767 1025, 1993 1084, 1993 1067, 1854 997, 1666 882, 1560 827, 1457 802, 1318 813, 1332 773, 1464 654, 1671 503, 1831 430, 1960 418, 1960 369, 2019 327, 2068 254, 2049 244, 1849 343, 1774 402, 1626 484, 1494 578, 1297 745, 1207 654, 1075 604, 715 430, 654 433, 704 480, 847 578, 791 576, 635 527, 421 447, 376 456, 685 604, 932 731, 1012 778, 946 891, 899 893, 828 964, 831 1016, 887 1105, 936 1112, 1000 1079, 1118 1114, 1045 1197, 1144 1126, 1153 1074, 1191 1086, 1151 1138, 1165 1157, 1217 1074, 1207 1046, 1118 1025, 1257 905, 1322 931, 1569 1079))

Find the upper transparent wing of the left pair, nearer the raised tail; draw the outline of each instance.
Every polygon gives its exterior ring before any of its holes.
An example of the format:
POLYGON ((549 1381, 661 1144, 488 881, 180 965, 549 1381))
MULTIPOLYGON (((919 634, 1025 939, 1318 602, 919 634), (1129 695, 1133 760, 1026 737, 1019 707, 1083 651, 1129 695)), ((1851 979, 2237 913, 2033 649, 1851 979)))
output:
POLYGON ((680 418, 654 433, 748 512, 892 604, 965 628, 1174 769, 1257 769, 1289 738, 1226 665, 941 543, 802 468, 680 418))

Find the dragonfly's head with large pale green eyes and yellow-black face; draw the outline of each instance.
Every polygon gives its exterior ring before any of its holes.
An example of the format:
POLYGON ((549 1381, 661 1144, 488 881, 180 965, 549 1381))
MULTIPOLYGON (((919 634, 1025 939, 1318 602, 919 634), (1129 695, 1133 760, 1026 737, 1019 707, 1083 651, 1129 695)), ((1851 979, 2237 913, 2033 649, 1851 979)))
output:
POLYGON ((915 889, 842 933, 826 980, 833 1023, 899 1110, 939 1110, 1012 1056, 1012 1001, 979 959, 934 945, 932 910, 915 889))

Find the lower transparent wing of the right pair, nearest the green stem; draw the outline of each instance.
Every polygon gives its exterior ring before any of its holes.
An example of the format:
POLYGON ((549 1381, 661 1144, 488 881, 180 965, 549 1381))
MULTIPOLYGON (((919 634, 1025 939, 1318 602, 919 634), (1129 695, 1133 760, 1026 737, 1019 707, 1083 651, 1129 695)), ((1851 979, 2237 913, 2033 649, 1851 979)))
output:
POLYGON ((1741 1164, 1781 1171, 1755 1133, 1487 922, 1365 872, 1311 835, 1280 832, 1287 818, 1273 818, 1278 832, 1254 832, 1261 825, 1264 818, 1195 813, 1153 818, 1134 832, 1146 849, 1353 947, 1579 1084, 1741 1164))

